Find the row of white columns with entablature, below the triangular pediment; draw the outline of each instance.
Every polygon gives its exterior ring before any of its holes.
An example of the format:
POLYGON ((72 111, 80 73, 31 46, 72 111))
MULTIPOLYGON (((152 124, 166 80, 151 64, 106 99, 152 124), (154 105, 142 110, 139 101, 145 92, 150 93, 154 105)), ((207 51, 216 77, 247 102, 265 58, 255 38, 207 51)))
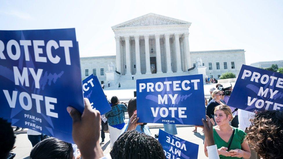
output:
POLYGON ((186 33, 115 36, 115 39, 116 70, 121 75, 187 72, 192 67, 186 33))

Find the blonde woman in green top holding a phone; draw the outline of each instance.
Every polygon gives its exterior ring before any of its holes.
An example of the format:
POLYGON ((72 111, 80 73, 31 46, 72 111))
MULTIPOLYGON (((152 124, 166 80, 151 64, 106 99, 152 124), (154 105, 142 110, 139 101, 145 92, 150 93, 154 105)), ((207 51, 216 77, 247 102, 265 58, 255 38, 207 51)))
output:
MULTIPOLYGON (((233 119, 230 107, 218 105, 214 109, 214 116, 217 125, 213 127, 213 138, 219 158, 250 158, 251 151, 245 141, 246 133, 229 125, 233 119)), ((204 153, 208 157, 206 146, 208 144, 204 140, 204 153)))

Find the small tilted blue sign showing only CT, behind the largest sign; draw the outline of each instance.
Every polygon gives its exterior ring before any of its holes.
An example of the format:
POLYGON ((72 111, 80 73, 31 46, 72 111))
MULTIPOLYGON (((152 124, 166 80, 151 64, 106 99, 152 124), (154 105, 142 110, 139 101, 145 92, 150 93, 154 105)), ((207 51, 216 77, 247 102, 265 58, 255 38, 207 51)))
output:
POLYGON ((91 74, 83 80, 84 98, 88 98, 93 109, 97 109, 100 114, 105 114, 111 110, 108 100, 101 88, 97 76, 91 74))

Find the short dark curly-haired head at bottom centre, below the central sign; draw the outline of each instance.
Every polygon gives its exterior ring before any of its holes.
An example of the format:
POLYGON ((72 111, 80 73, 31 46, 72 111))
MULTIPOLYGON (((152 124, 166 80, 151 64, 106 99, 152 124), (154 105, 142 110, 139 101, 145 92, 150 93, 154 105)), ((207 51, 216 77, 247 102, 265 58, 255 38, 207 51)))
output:
POLYGON ((165 159, 161 144, 155 138, 136 130, 124 132, 114 143, 110 155, 113 159, 165 159))

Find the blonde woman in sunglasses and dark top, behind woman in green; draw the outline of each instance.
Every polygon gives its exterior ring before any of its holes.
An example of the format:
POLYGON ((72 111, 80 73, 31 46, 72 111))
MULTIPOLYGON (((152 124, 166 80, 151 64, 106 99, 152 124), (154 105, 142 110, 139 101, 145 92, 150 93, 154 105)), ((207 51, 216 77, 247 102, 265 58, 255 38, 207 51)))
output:
POLYGON ((210 118, 211 123, 213 125, 215 125, 215 121, 214 121, 214 108, 217 105, 221 105, 221 104, 225 104, 224 100, 222 100, 222 92, 219 91, 218 89, 213 90, 213 92, 211 93, 211 98, 212 100, 208 103, 207 107, 206 107, 206 115, 210 118))

